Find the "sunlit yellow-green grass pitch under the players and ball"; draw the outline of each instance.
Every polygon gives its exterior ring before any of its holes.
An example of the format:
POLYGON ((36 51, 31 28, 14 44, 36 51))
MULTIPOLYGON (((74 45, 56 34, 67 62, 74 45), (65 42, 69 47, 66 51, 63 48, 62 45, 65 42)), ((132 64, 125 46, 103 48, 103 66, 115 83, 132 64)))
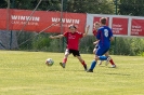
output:
MULTIPOLYGON (((117 68, 96 66, 83 71, 73 55, 60 67, 64 53, 0 51, 0 95, 144 95, 144 57, 113 55, 117 68), (44 62, 53 58, 54 65, 44 62)), ((81 54, 88 66, 93 54, 81 54)))

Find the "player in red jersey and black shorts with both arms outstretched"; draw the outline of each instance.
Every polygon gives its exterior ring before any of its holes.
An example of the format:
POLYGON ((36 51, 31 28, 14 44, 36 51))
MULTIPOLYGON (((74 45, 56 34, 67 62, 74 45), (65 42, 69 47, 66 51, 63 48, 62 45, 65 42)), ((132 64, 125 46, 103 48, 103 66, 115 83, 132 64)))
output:
POLYGON ((73 55, 75 57, 77 57, 79 59, 79 62, 82 64, 82 66, 84 67, 84 70, 87 70, 87 64, 81 58, 80 53, 79 53, 79 40, 82 37, 86 37, 88 35, 89 28, 90 28, 90 26, 88 26, 86 28, 86 32, 82 33, 82 32, 77 31, 77 27, 75 25, 70 25, 69 31, 66 31, 63 35, 58 35, 58 36, 50 36, 51 39, 63 38, 63 37, 66 37, 66 39, 67 39, 65 56, 63 58, 63 63, 60 63, 60 65, 63 68, 65 68, 65 66, 66 66, 68 55, 73 53, 73 55))

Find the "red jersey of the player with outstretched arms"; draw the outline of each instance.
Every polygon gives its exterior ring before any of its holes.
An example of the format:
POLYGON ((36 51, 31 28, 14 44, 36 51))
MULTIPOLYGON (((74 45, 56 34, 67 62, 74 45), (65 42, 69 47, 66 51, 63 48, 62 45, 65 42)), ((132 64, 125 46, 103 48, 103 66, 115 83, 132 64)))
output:
POLYGON ((65 32, 64 37, 67 38, 67 49, 78 50, 79 49, 79 40, 83 37, 81 32, 65 32))

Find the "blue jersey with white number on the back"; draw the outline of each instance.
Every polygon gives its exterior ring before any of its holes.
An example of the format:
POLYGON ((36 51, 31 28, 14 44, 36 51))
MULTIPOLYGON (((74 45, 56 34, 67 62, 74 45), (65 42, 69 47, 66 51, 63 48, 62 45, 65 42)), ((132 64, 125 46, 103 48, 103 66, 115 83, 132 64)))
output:
POLYGON ((112 37, 113 37, 113 32, 109 27, 107 27, 107 26, 100 27, 97 30, 97 35, 96 35, 96 39, 100 40, 99 46, 109 48, 112 37))

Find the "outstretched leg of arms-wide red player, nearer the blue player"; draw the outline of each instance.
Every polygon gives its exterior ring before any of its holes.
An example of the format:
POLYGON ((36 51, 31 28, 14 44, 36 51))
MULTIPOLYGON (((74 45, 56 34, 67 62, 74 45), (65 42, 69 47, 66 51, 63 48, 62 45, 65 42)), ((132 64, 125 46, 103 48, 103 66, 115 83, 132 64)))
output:
POLYGON ((87 64, 86 64, 86 62, 81 58, 79 51, 74 50, 74 51, 73 51, 73 55, 79 59, 79 62, 80 62, 81 65, 83 66, 84 70, 87 70, 87 64))

